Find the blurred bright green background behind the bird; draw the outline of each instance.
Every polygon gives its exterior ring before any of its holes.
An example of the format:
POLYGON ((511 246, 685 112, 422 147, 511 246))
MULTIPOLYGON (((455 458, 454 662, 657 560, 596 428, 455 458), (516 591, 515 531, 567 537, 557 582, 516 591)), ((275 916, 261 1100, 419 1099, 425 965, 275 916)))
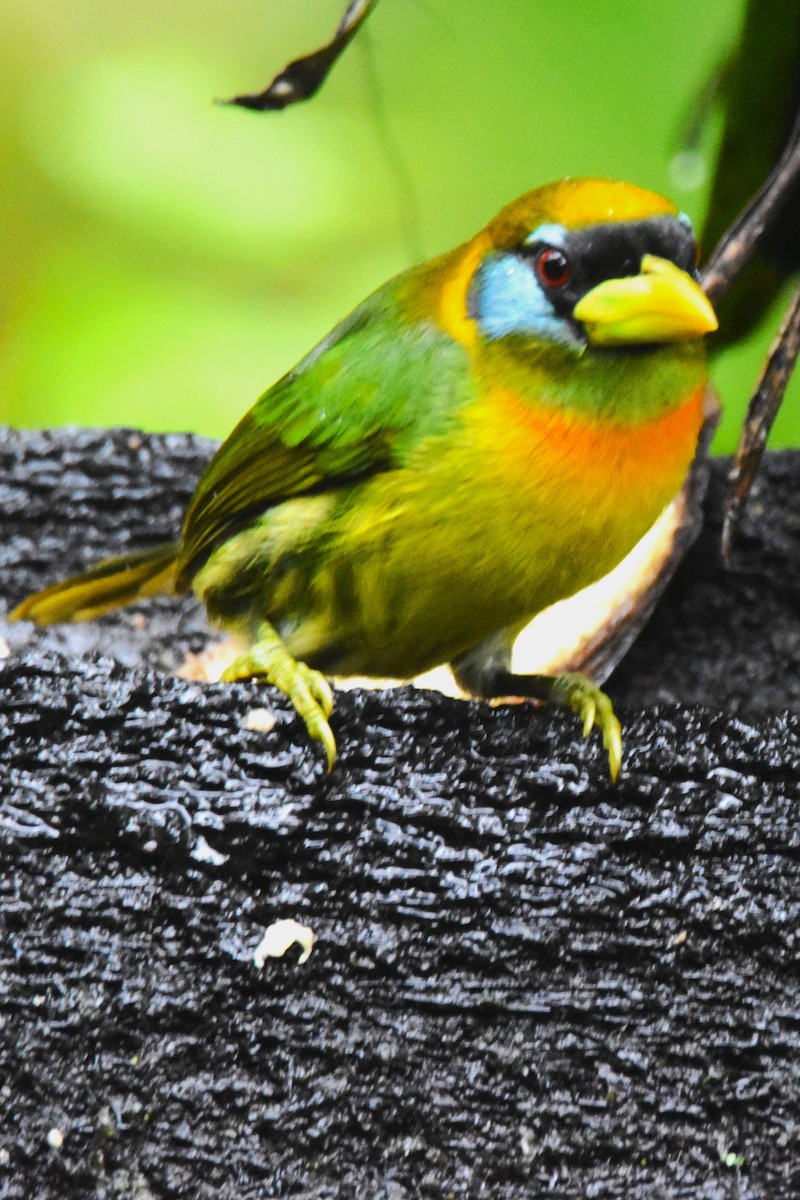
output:
MULTIPOLYGON (((221 437, 373 287, 567 174, 702 223, 718 116, 681 137, 744 0, 383 0, 309 103, 212 103, 343 7, 0 0, 0 419, 221 437)), ((716 449, 774 328, 715 364, 716 449)))

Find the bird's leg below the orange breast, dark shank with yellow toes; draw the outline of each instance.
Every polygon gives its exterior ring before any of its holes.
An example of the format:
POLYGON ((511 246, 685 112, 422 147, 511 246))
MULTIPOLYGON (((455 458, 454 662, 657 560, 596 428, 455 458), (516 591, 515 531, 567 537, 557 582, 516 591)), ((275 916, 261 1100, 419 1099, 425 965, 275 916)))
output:
POLYGON ((583 722, 584 737, 588 737, 595 726, 602 733, 612 782, 616 782, 622 762, 622 731, 606 692, 578 671, 557 676, 515 674, 504 660, 506 660, 505 649, 498 647, 482 661, 479 654, 473 652, 452 665, 456 682, 465 691, 485 700, 524 696, 572 709, 583 722))

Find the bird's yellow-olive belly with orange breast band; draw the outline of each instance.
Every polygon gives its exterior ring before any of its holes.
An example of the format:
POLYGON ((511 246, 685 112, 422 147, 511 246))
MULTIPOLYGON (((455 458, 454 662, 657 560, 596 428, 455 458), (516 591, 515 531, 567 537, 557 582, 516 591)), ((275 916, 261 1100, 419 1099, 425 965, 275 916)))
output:
POLYGON ((325 568, 306 577, 305 616, 285 630, 291 652, 341 674, 408 678, 527 623, 654 523, 702 418, 703 390, 637 426, 531 413, 493 392, 461 437, 350 497, 325 568))

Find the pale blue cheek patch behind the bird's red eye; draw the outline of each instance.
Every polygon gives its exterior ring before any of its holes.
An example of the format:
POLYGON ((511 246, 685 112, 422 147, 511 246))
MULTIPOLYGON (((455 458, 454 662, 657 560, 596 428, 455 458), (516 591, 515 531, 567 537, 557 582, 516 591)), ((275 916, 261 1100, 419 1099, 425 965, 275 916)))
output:
POLYGON ((516 254, 495 254, 482 263, 470 287, 469 308, 486 337, 528 334, 583 348, 569 322, 553 312, 531 266, 516 254))

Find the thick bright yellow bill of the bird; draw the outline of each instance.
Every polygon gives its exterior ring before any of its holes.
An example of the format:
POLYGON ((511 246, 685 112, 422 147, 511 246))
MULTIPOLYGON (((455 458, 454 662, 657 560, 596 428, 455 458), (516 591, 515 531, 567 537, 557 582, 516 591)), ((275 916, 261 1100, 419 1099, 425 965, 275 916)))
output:
POLYGON ((717 328, 708 298, 691 275, 645 254, 639 275, 606 280, 575 306, 593 346, 682 342, 717 328))

